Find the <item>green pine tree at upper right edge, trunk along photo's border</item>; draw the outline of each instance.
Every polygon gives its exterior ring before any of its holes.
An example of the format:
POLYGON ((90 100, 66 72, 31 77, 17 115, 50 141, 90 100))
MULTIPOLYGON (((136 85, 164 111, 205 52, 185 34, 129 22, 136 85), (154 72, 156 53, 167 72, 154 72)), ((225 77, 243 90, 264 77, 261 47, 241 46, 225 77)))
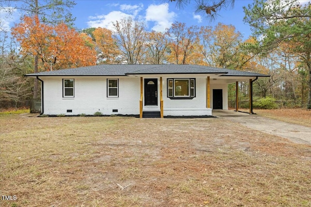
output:
POLYGON ((299 4, 297 0, 256 0, 244 7, 247 22, 253 34, 260 39, 260 53, 268 53, 282 44, 300 58, 308 70, 308 103, 311 109, 311 3, 299 4))

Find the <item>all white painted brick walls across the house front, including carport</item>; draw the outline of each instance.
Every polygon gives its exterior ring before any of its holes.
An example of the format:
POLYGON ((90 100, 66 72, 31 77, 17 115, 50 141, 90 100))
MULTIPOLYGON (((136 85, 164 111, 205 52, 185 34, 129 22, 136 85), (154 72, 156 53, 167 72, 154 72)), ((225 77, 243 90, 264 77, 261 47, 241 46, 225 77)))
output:
MULTIPOLYGON (((44 114, 78 115, 85 113, 92 115, 101 111, 104 115, 111 114, 139 114, 140 78, 139 77, 40 77, 44 81, 44 114), (119 79, 119 97, 107 97, 107 78, 119 79), (74 79, 74 98, 63 98, 62 79, 74 79), (118 112, 112 112, 112 110, 118 112), (72 112, 67 112, 72 110, 72 112)), ((158 78, 159 77, 155 77, 158 78)), ((170 77, 180 78, 180 77, 170 77)), ((167 79, 163 78, 164 116, 197 116, 211 115, 211 109, 206 108, 206 78, 196 78, 196 97, 193 99, 170 99, 167 97, 167 79)), ((160 83, 158 82, 158 95, 160 83)), ((223 108, 227 109, 227 85, 213 84, 212 89, 223 89, 223 108)), ((145 111, 160 108, 148 108, 145 111)))

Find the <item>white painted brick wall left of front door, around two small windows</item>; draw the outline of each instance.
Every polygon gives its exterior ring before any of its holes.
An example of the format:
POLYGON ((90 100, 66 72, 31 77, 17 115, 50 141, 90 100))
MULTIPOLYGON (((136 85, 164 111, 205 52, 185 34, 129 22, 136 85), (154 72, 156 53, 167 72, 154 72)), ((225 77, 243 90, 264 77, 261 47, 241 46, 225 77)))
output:
POLYGON ((74 98, 63 98, 62 78, 42 78, 44 81, 44 113, 57 115, 139 114, 140 81, 138 78, 119 78, 119 97, 107 97, 106 77, 74 78, 74 98), (133 93, 134 92, 134 93, 133 93), (117 109, 118 112, 112 112, 117 109), (72 112, 67 112, 72 110, 72 112))

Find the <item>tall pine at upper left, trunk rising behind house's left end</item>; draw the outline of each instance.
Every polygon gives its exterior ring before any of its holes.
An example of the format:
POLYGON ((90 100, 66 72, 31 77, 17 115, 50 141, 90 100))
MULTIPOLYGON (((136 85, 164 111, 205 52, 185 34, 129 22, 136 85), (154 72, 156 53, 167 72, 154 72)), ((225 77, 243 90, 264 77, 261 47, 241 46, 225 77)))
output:
MULTIPOLYGON (((76 3, 72 0, 0 0, 0 7, 8 12, 15 10, 28 16, 37 16, 39 22, 45 24, 58 24, 64 22, 72 26, 75 18, 72 17, 69 9, 76 3)), ((34 56, 34 72, 38 72, 39 55, 34 56)), ((34 98, 38 96, 38 80, 34 80, 34 98)))

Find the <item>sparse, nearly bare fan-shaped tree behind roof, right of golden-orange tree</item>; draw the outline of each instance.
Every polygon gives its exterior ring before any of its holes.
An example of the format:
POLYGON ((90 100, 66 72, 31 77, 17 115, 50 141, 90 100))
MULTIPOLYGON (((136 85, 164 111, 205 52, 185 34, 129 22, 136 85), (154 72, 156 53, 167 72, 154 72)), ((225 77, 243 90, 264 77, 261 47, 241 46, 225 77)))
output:
POLYGON ((141 64, 143 62, 144 44, 146 40, 145 25, 134 21, 131 17, 112 23, 115 30, 116 45, 121 51, 123 62, 141 64))

